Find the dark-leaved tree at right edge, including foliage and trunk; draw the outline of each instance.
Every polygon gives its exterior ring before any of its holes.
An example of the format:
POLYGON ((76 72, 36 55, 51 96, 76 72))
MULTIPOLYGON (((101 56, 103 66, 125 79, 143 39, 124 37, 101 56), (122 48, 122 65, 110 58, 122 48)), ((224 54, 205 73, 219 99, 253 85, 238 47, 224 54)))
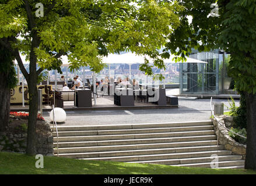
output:
POLYGON ((180 58, 188 56, 191 48, 198 51, 224 49, 230 53, 229 76, 238 91, 244 92, 247 105, 246 169, 256 169, 256 1, 219 0, 180 1, 185 10, 180 27, 170 35, 168 50, 180 58), (218 9, 217 9, 218 8, 218 9), (216 10, 219 11, 216 12, 216 10), (209 16, 209 13, 216 12, 209 16), (192 23, 188 23, 192 16, 192 23))

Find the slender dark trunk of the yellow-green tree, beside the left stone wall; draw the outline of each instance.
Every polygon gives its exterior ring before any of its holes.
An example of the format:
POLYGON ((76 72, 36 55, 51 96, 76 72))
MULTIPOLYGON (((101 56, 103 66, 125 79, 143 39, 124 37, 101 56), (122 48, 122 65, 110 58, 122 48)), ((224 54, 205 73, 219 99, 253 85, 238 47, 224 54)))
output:
POLYGON ((36 124, 37 124, 37 75, 35 71, 30 71, 29 80, 29 121, 27 127, 27 149, 28 155, 36 154, 36 124))

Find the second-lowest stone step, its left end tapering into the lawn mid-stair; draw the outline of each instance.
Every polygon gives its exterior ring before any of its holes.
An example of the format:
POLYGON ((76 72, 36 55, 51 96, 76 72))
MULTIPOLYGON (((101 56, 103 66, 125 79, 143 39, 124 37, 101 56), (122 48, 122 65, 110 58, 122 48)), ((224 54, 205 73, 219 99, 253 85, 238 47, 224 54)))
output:
MULTIPOLYGON (((231 162, 234 160, 241 160, 242 156, 237 156, 237 155, 223 155, 223 156, 218 156, 219 162, 231 162)), ((162 160, 146 160, 146 161, 131 161, 128 163, 150 163, 150 164, 168 164, 168 165, 175 165, 177 164, 178 166, 187 166, 187 167, 192 167, 197 166, 197 164, 205 164, 205 166, 211 167, 211 164, 213 161, 213 158, 211 156, 207 157, 199 157, 199 158, 178 158, 178 159, 162 159, 162 160)), ((231 164, 231 163, 230 163, 231 164)), ((227 166, 231 166, 230 164, 227 163, 227 166)), ((222 165, 222 164, 219 164, 222 165)), ((241 164, 239 164, 241 165, 241 164)))

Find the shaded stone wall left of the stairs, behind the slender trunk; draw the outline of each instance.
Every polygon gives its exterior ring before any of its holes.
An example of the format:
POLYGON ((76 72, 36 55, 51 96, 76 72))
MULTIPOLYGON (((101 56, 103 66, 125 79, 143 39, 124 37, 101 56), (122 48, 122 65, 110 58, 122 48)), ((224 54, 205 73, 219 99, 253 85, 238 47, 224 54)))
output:
MULTIPOLYGON (((23 126, 26 128, 26 126, 23 126)), ((0 133, 0 151, 25 153, 27 146, 26 130, 6 131, 0 133)), ((36 154, 53 156, 53 137, 50 124, 47 121, 37 121, 36 154)))

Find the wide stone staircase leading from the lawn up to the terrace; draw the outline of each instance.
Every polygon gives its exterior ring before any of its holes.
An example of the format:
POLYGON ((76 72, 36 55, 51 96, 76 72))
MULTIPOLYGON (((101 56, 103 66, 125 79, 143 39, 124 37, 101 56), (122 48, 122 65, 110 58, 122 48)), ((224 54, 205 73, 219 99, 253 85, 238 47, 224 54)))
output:
POLYGON ((60 157, 211 167, 218 155, 219 168, 244 168, 241 156, 217 145, 212 121, 61 126, 58 134, 60 157))

